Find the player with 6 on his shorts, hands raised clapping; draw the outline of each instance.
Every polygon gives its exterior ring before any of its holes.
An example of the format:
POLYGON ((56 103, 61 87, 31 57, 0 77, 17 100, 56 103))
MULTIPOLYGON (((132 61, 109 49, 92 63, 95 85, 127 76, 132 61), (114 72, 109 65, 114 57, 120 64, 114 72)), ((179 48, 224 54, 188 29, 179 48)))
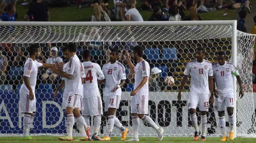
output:
POLYGON ((76 56, 76 45, 68 44, 67 45, 68 57, 68 69, 62 71, 62 67, 56 63, 56 67, 50 68, 54 73, 66 78, 65 84, 68 85, 68 99, 66 107, 66 130, 67 135, 64 137, 59 137, 60 140, 72 141, 72 129, 74 125, 74 117, 76 118, 76 123, 79 129, 81 138, 76 139, 76 141, 88 140, 86 132, 90 130, 87 126, 84 118, 80 114, 80 107, 83 102, 83 83, 81 76, 84 75, 84 69, 82 68, 79 58, 76 56), (85 129, 87 131, 85 131, 85 129))

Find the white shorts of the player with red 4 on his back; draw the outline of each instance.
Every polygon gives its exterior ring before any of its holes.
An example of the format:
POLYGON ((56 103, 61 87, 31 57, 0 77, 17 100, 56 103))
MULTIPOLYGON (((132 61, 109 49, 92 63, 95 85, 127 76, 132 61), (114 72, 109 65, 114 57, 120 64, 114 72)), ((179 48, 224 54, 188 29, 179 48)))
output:
POLYGON ((84 110, 82 110, 83 116, 97 116, 102 115, 102 101, 100 96, 93 96, 90 98, 83 98, 84 110))

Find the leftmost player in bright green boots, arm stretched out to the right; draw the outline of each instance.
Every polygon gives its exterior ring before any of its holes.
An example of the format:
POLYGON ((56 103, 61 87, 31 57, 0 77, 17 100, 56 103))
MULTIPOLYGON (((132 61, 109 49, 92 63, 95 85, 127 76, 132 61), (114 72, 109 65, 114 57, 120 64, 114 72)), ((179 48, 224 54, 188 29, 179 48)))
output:
POLYGON ((21 110, 24 113, 22 138, 24 140, 35 140, 29 135, 29 130, 36 115, 35 87, 38 67, 49 68, 54 65, 37 62, 39 55, 40 47, 35 44, 30 45, 29 57, 24 65, 23 84, 20 87, 21 110))

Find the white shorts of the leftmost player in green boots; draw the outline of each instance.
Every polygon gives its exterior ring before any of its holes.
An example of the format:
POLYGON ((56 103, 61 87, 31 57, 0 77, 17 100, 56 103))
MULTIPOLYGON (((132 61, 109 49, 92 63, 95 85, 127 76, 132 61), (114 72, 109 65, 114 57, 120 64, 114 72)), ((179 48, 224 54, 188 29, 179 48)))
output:
POLYGON ((20 104, 22 113, 36 112, 36 96, 34 93, 34 100, 29 99, 29 94, 20 93, 20 104))

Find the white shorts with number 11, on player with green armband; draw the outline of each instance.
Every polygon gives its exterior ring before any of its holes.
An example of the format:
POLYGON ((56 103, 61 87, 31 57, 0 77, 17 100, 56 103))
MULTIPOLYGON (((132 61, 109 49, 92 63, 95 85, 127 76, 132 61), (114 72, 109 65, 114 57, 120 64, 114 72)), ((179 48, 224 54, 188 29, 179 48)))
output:
POLYGON ((219 98, 215 97, 214 108, 217 111, 224 111, 225 107, 234 107, 234 94, 219 95, 219 98))

